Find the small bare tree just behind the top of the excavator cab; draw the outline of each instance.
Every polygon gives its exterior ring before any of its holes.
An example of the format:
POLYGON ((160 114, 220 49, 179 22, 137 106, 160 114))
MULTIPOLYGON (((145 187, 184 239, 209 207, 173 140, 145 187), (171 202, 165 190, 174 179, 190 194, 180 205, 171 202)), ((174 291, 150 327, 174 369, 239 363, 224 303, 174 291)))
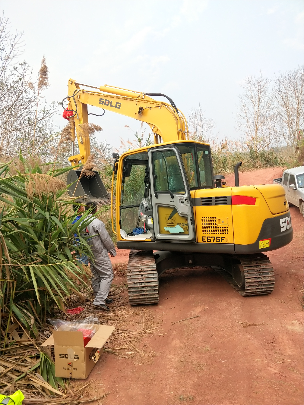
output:
POLYGON ((188 115, 189 138, 193 141, 209 142, 212 137, 212 129, 215 127, 215 119, 205 118, 205 111, 202 110, 201 104, 198 108, 191 109, 188 115))

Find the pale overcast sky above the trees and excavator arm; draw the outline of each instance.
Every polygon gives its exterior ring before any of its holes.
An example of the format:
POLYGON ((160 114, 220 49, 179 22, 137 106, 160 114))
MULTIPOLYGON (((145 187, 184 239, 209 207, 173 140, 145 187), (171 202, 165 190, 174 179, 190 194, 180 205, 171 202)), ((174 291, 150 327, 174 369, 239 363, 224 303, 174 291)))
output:
MULTIPOLYGON (((248 75, 273 77, 303 64, 302 0, 1 0, 2 11, 24 31, 22 59, 34 72, 45 55, 47 102, 66 96, 70 77, 165 93, 185 115, 201 103, 221 138, 238 136, 235 104, 248 75)), ((120 136, 134 139, 125 125, 139 127, 108 111, 92 121, 115 147, 120 136)), ((57 129, 65 124, 60 112, 57 129)))

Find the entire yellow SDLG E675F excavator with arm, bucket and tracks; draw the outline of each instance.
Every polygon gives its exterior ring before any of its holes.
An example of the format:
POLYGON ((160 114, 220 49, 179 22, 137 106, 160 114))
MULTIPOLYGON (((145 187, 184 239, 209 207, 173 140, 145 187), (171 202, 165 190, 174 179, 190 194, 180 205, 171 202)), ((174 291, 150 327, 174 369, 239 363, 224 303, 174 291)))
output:
POLYGON ((167 269, 194 266, 211 266, 242 296, 270 294, 274 271, 264 252, 293 239, 283 187, 239 186, 242 162, 235 166, 235 187, 226 186, 224 176, 214 175, 210 145, 188 139, 184 114, 164 94, 93 87, 73 79, 68 87, 64 111, 74 140, 77 135, 79 153, 72 142, 69 161, 75 170, 67 183, 69 194, 79 201, 110 200, 96 171, 94 177, 78 180, 79 164, 90 156, 88 105, 146 122, 154 134, 154 145, 121 156, 113 153, 112 227, 117 247, 132 249, 127 270, 130 304, 158 303, 158 276, 167 269))

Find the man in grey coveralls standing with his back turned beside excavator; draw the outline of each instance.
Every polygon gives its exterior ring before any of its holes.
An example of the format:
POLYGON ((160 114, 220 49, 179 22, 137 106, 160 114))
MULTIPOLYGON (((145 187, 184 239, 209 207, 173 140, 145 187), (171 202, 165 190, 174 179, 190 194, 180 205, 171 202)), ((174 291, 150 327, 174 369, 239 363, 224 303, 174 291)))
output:
MULTIPOLYGON (((88 217, 94 215, 97 211, 96 204, 90 203, 86 205, 86 210, 88 209, 91 209, 92 212, 88 217)), ((105 228, 105 224, 98 218, 94 218, 90 225, 87 226, 87 230, 90 234, 88 244, 91 246, 94 256, 94 262, 90 260, 93 274, 92 288, 95 295, 93 305, 109 311, 110 309, 106 304, 113 302, 113 299, 107 299, 107 296, 114 276, 108 253, 111 256, 116 256, 115 246, 105 228)))

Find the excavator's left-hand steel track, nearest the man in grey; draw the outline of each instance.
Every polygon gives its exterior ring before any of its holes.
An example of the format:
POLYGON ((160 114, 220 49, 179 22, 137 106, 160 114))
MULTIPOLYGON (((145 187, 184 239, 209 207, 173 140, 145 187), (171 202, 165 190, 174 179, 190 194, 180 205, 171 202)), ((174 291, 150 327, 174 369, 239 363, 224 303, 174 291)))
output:
POLYGON ((130 251, 127 280, 131 305, 158 303, 158 274, 153 251, 130 251))

